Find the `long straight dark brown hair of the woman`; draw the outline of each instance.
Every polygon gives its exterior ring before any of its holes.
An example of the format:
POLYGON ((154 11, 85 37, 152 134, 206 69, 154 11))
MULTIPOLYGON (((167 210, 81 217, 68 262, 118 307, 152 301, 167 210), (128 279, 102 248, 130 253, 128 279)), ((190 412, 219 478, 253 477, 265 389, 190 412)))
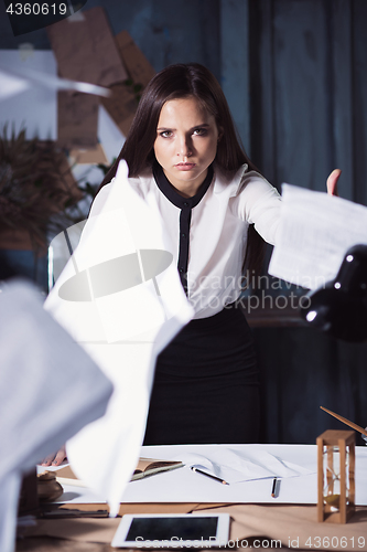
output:
MULTIPOLYGON (((215 117, 220 132, 216 163, 225 171, 238 170, 244 163, 248 163, 250 170, 256 170, 240 146, 226 97, 215 76, 198 63, 179 63, 162 70, 148 84, 121 152, 100 188, 115 177, 121 159, 127 161, 130 177, 138 177, 153 166, 156 127, 163 105, 170 99, 190 96, 195 97, 215 117)), ((249 274, 260 270, 263 253, 265 242, 250 225, 244 262, 249 274)))

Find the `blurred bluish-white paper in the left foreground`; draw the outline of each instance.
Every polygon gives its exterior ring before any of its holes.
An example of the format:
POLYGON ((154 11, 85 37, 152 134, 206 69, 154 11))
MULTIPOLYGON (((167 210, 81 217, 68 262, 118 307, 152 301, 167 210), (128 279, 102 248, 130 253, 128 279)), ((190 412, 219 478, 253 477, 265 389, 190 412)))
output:
POLYGON ((28 282, 0 290, 0 550, 13 550, 21 476, 106 411, 111 383, 28 282))

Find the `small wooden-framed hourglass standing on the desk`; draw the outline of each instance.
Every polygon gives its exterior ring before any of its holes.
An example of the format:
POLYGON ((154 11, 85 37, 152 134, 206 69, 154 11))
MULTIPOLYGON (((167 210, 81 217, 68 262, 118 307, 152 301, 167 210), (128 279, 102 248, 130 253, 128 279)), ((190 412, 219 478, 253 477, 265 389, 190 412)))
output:
POLYGON ((328 429, 317 444, 317 521, 346 523, 355 510, 355 433, 328 429))

